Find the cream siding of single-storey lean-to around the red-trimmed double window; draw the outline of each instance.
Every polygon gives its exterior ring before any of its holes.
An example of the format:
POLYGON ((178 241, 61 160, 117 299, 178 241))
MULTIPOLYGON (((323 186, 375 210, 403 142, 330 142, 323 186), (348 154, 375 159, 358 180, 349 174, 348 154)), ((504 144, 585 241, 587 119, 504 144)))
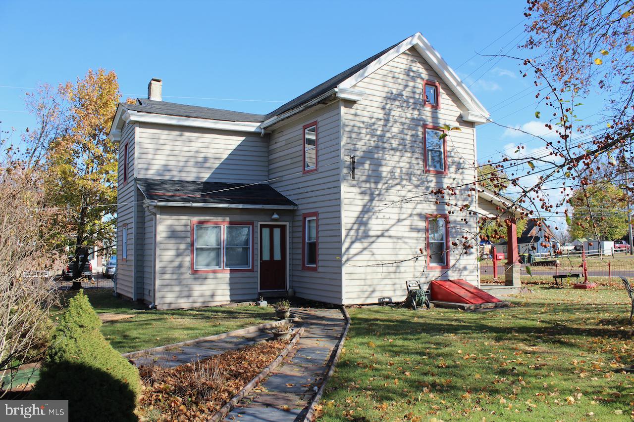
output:
MULTIPOLYGON (((279 222, 292 220, 290 211, 277 213, 279 222)), ((161 207, 157 230, 157 307, 212 306, 257 299, 259 221, 270 222, 271 210, 161 207), (254 271, 191 274, 192 220, 253 221, 254 271)))

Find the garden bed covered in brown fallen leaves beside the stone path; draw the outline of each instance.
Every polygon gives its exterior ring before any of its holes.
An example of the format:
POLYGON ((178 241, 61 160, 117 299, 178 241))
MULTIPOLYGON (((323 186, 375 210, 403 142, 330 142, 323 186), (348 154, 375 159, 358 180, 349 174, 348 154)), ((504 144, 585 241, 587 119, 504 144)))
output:
POLYGON ((262 342, 176 368, 141 366, 141 421, 207 421, 288 344, 262 342))

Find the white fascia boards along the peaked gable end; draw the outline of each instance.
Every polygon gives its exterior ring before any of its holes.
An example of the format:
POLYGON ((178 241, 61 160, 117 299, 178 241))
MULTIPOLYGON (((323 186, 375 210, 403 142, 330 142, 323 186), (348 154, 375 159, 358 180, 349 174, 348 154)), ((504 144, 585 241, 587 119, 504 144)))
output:
MULTIPOLYGON (((456 75, 455 71, 450 68, 450 66, 444 61, 441 55, 434 49, 434 47, 429 44, 429 41, 423 37, 420 32, 412 35, 408 39, 395 46, 390 51, 385 53, 383 56, 380 56, 378 59, 370 63, 370 65, 365 68, 359 70, 350 78, 347 78, 339 84, 340 88, 351 88, 354 85, 358 84, 363 78, 368 77, 375 71, 377 71, 381 66, 392 61, 392 59, 396 58, 399 54, 404 53, 411 47, 415 47, 418 53, 429 63, 430 66, 436 71, 436 73, 443 78, 444 82, 449 85, 450 89, 458 96, 460 101, 465 105, 468 110, 467 118, 474 121, 474 123, 482 123, 481 120, 489 116, 489 112, 482 106, 481 102, 477 100, 477 98, 472 94, 472 92, 467 88, 467 85, 463 84, 462 80, 456 75)), ((464 118, 464 116, 463 116, 464 118)))

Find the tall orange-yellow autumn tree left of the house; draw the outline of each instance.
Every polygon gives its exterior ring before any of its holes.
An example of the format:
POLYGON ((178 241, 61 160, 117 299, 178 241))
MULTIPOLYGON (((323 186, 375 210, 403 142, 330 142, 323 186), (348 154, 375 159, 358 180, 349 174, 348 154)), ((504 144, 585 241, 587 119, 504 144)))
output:
POLYGON ((32 132, 30 148, 36 151, 34 157, 41 156, 47 173, 44 192, 49 208, 62 211, 57 222, 63 230, 52 233, 52 241, 74 251, 72 273, 77 279, 88 258, 87 247, 114 242, 117 149, 108 131, 119 102, 119 84, 114 71, 89 70, 75 84, 60 85, 55 94, 45 92, 46 96, 31 96, 30 108, 39 111, 55 104, 55 120, 32 132))

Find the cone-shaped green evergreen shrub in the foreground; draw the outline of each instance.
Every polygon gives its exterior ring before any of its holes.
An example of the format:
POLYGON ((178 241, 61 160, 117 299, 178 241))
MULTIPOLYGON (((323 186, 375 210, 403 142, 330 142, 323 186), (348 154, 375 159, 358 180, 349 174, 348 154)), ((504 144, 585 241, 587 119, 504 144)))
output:
POLYGON ((136 421, 138 370, 110 346, 80 290, 58 323, 31 397, 68 399, 73 421, 136 421))

